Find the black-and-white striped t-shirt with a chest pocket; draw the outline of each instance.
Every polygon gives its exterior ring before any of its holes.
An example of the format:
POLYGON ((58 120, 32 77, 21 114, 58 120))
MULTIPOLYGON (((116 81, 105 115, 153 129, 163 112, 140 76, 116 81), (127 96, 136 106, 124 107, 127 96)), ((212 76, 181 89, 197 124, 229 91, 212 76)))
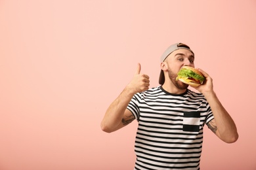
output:
POLYGON ((136 93, 127 109, 139 122, 135 169, 200 169, 203 126, 213 119, 202 93, 136 93))

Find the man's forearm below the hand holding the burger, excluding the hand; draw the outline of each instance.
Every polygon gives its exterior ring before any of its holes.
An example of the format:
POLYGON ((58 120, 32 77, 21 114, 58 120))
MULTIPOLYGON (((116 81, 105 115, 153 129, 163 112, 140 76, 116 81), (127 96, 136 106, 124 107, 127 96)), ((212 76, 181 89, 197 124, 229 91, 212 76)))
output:
POLYGON ((226 143, 234 143, 238 139, 236 124, 230 114, 224 109, 215 92, 205 93, 217 126, 216 135, 226 143))

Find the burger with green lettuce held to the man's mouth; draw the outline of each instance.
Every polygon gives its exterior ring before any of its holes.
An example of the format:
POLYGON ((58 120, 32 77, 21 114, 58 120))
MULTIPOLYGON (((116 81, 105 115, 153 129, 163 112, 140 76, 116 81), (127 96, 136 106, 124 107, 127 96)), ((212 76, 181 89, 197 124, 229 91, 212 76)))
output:
POLYGON ((197 87, 203 84, 205 77, 194 67, 183 66, 181 67, 176 80, 180 80, 185 84, 197 87))

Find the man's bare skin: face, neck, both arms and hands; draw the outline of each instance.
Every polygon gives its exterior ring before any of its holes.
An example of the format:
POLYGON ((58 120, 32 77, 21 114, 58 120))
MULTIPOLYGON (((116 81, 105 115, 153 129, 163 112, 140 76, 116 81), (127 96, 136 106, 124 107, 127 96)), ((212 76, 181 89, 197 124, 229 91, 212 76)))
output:
MULTIPOLYGON (((184 65, 194 67, 194 55, 186 49, 175 50, 161 63, 160 67, 165 75, 165 82, 163 84, 164 90, 175 94, 186 92, 188 85, 176 80, 177 73, 184 65)), ((135 93, 144 92, 145 90, 148 90, 150 86, 149 76, 140 74, 140 69, 141 66, 138 64, 131 82, 127 84, 123 92, 120 93, 106 110, 106 114, 101 122, 103 131, 108 133, 116 131, 135 120, 131 111, 126 109, 127 105, 135 93)), ((205 76, 205 82, 202 85, 193 88, 203 93, 205 99, 207 99, 211 106, 211 110, 215 117, 207 124, 207 126, 225 143, 234 143, 238 140, 236 124, 232 120, 230 114, 224 109, 214 92, 213 79, 202 69, 198 69, 198 71, 205 76)))

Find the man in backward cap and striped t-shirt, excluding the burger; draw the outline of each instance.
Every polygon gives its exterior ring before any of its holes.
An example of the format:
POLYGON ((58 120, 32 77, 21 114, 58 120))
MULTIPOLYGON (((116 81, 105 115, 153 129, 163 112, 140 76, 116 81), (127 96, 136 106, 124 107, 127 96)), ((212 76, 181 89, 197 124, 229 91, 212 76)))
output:
POLYGON ((160 84, 149 89, 148 75, 140 64, 131 82, 106 110, 101 127, 108 133, 139 122, 135 141, 135 169, 200 169, 203 126, 226 143, 234 143, 238 132, 234 121, 213 91, 213 80, 202 69, 205 82, 188 90, 176 80, 182 66, 194 67, 194 52, 176 43, 161 56, 160 84))

